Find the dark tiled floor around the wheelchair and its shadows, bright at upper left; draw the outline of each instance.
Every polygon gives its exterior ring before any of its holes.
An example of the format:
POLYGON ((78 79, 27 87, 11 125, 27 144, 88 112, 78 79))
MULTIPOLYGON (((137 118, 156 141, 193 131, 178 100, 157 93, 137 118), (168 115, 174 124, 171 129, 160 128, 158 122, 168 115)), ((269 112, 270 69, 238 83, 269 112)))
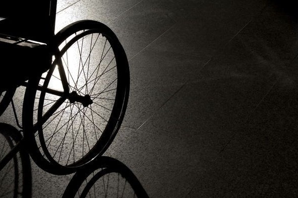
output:
MULTIPOLYGON (((60 0, 56 30, 97 20, 123 44, 130 99, 106 155, 150 197, 296 197, 297 13, 278 0, 60 0)), ((32 168, 34 197, 72 177, 32 168)))

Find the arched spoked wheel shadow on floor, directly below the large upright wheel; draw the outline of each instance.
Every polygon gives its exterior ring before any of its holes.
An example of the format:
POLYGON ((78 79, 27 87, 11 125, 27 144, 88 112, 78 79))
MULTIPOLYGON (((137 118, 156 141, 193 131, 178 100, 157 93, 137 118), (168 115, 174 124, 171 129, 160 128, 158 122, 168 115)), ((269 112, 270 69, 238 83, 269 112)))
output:
POLYGON ((122 162, 100 156, 76 172, 63 197, 148 197, 134 173, 122 162))

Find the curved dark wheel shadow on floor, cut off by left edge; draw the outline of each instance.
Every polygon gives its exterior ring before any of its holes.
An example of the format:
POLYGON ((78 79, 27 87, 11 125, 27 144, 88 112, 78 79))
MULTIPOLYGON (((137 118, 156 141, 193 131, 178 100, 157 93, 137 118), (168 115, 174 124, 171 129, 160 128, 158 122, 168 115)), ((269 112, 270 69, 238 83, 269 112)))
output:
MULTIPOLYGON (((21 138, 22 135, 16 128, 8 124, 0 124, 0 162, 21 138)), ((0 170, 0 197, 30 197, 31 185, 29 154, 21 149, 0 170)))

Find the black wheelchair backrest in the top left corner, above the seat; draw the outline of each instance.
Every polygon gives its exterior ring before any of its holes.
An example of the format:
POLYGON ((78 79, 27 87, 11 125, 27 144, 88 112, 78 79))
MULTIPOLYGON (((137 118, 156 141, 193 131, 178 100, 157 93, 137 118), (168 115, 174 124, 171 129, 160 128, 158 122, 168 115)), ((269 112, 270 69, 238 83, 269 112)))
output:
POLYGON ((57 0, 1 0, 0 34, 47 41, 54 34, 56 3, 57 0))

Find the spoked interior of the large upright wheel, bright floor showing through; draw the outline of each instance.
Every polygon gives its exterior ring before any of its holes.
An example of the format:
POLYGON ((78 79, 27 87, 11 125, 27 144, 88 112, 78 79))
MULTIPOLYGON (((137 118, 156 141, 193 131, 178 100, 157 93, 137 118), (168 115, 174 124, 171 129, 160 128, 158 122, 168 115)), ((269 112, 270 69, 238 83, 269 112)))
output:
POLYGON ((43 87, 63 92, 63 96, 56 96, 41 91, 37 96, 38 108, 35 109, 39 122, 55 101, 63 101, 38 130, 39 147, 52 164, 74 167, 86 163, 99 154, 106 139, 115 133, 117 125, 121 123, 125 91, 123 85, 118 83, 122 79, 119 75, 122 71, 117 66, 118 60, 114 57, 109 39, 96 30, 88 30, 74 34, 65 45, 59 47, 70 84, 68 92, 63 91, 56 65, 45 76, 43 87), (95 57, 93 53, 99 56, 95 57), (78 60, 70 58, 75 54, 79 55, 78 60), (74 92, 75 96, 72 96, 74 92), (88 103, 90 99, 92 102, 88 103))

